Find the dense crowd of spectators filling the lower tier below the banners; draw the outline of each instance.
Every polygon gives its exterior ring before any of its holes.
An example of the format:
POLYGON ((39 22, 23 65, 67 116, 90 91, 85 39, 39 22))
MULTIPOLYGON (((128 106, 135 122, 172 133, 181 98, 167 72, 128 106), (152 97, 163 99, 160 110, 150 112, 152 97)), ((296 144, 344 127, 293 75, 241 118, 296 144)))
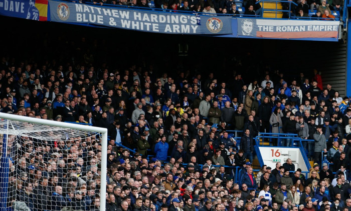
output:
POLYGON ((10 163, 9 210, 21 202, 31 211, 99 210, 106 197, 106 210, 120 211, 350 211, 349 98, 323 88, 317 70, 294 79, 266 71, 251 81, 238 72, 222 82, 215 73, 135 64, 112 70, 3 58, 0 80, 0 112, 109 134, 107 152, 95 136, 58 143, 21 137, 10 163), (242 133, 230 137, 230 130, 242 133), (315 163, 309 174, 290 159, 253 174, 253 138, 269 131, 314 140, 303 142, 315 163), (102 153, 107 178, 99 175, 102 153), (101 179, 106 196, 99 195, 101 179))

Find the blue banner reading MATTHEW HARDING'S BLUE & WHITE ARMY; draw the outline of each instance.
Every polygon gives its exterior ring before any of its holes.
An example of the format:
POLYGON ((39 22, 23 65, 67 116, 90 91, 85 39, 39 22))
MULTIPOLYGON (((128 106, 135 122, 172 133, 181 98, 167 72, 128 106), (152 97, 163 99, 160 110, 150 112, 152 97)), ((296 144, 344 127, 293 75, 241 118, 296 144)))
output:
POLYGON ((148 10, 97 7, 49 1, 54 22, 94 24, 105 27, 167 34, 232 34, 232 17, 206 16, 148 10), (199 24, 200 17, 200 24, 199 24))

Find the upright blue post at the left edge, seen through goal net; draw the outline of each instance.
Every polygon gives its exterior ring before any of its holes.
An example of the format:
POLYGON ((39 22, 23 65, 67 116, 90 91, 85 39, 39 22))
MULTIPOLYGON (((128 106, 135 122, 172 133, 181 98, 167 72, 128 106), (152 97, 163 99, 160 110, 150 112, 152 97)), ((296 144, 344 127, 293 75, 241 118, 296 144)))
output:
MULTIPOLYGON (((9 128, 9 120, 7 120, 7 130, 9 128)), ((8 154, 8 134, 4 134, 3 153, 0 159, 0 210, 5 211, 8 202, 9 187, 9 158, 8 154)))

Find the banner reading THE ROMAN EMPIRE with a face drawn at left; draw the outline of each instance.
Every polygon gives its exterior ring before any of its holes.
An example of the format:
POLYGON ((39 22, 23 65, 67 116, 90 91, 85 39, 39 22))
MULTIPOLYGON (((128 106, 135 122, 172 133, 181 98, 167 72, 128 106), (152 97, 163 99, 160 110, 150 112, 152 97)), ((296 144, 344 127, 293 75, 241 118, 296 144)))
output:
POLYGON ((338 21, 238 18, 238 36, 261 38, 337 38, 338 21))

